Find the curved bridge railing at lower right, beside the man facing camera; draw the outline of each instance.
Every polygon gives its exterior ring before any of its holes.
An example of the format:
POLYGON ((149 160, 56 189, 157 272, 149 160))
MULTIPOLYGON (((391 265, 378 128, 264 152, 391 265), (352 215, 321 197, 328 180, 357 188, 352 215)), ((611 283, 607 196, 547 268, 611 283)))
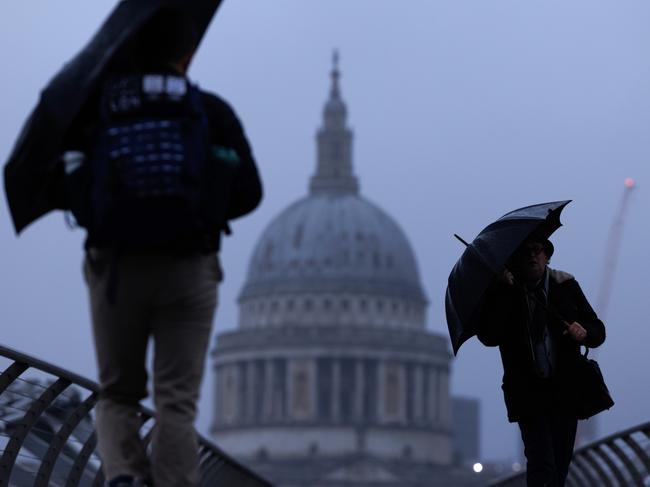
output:
MULTIPOLYGON (((577 449, 567 487, 650 487, 650 422, 577 449)), ((490 487, 525 487, 526 473, 499 479, 490 487)))

